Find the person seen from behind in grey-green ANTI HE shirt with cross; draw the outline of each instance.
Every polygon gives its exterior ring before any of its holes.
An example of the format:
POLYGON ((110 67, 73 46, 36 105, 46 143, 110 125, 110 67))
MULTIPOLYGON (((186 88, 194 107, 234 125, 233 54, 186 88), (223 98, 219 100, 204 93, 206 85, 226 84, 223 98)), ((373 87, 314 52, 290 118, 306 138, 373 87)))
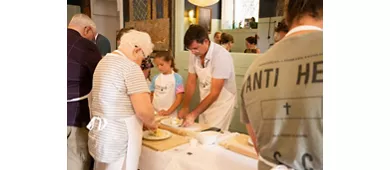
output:
POLYGON ((287 0, 290 31, 249 67, 241 121, 258 169, 323 169, 322 0, 287 0))

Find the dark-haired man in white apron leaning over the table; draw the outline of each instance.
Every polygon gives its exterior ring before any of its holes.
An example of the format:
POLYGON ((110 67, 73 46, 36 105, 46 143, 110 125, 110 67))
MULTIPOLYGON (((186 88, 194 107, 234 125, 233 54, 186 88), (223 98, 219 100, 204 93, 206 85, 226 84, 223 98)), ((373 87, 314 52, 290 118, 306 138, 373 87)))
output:
POLYGON ((236 80, 233 58, 222 46, 209 40, 207 31, 199 25, 191 25, 184 45, 191 51, 188 77, 179 118, 183 126, 190 126, 199 116, 199 123, 229 129, 236 104, 236 80), (200 104, 190 112, 189 105, 199 80, 200 104))

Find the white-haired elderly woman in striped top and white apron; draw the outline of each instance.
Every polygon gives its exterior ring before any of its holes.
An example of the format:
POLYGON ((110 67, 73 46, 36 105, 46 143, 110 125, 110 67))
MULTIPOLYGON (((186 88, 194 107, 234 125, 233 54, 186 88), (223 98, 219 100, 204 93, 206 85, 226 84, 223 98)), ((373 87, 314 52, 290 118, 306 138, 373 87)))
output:
POLYGON ((152 49, 147 33, 130 30, 120 39, 118 50, 108 53, 96 67, 90 96, 92 119, 87 126, 95 170, 136 170, 143 124, 157 128, 140 68, 152 49))

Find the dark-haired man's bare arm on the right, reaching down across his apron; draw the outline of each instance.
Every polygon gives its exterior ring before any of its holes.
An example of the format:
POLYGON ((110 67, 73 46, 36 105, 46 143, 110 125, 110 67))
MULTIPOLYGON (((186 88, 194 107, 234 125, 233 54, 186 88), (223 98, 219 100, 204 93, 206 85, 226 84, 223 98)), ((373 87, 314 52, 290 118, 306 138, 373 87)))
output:
POLYGON ((194 114, 195 117, 199 116, 201 113, 203 113, 207 108, 210 107, 211 104, 213 104, 217 99, 219 94, 222 91, 223 85, 225 83, 224 79, 211 79, 211 90, 209 95, 204 98, 200 104, 191 112, 191 114, 194 114))

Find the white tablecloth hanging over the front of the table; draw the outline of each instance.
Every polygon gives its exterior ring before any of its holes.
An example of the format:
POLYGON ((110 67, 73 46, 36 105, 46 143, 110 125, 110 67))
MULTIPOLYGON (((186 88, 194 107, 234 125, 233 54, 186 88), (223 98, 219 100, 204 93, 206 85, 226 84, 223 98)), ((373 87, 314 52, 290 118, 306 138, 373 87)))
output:
POLYGON ((219 145, 184 144, 164 152, 142 146, 140 170, 257 170, 257 160, 219 145))

